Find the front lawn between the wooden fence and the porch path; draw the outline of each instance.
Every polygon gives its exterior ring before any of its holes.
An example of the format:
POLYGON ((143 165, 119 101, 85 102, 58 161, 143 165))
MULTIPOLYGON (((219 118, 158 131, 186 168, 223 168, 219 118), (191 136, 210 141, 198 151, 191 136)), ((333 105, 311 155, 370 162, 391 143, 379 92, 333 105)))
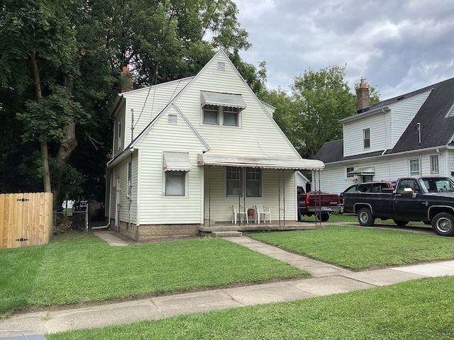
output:
POLYGON ((0 249, 0 268, 0 313, 306 273, 224 239, 115 247, 83 232, 57 235, 44 246, 0 249))

